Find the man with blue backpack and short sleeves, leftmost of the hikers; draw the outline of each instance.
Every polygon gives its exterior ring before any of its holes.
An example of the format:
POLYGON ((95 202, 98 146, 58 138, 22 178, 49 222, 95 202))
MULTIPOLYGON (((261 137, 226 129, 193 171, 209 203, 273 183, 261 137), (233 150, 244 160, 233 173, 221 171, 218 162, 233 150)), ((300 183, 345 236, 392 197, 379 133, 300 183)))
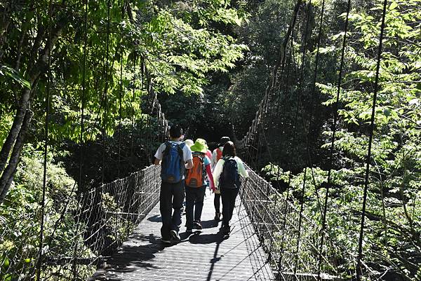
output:
POLYGON ((161 240, 170 243, 171 238, 180 242, 182 203, 185 198, 185 170, 193 167, 192 151, 180 142, 182 128, 170 128, 170 140, 159 146, 155 153, 155 165, 161 165, 161 191, 159 211, 161 212, 161 240), (172 209, 174 209, 173 214, 172 209))

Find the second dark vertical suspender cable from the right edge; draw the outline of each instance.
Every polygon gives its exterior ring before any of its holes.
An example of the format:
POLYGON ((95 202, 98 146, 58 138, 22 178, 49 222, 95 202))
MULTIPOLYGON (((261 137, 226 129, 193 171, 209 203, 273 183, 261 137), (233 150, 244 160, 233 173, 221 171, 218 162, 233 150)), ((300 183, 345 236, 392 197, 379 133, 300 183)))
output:
POLYGON ((339 104, 339 97, 340 91, 342 88, 342 76, 344 71, 344 64, 345 64, 345 47, 347 46, 347 32, 348 32, 348 24, 349 24, 349 11, 351 9, 351 0, 347 1, 347 11, 346 11, 346 18, 345 18, 345 27, 344 27, 344 36, 342 39, 342 51, 341 51, 341 58, 340 58, 340 67, 339 67, 339 75, 338 75, 338 88, 336 91, 336 100, 333 110, 333 124, 332 124, 332 136, 330 138, 330 152, 329 152, 329 160, 330 160, 330 167, 328 170, 328 178, 326 184, 326 193, 324 198, 323 204, 323 214, 321 217, 321 241, 319 246, 319 259, 317 265, 317 280, 321 280, 321 263, 322 263, 322 255, 323 255, 323 245, 324 239, 326 235, 326 215, 328 210, 328 197, 329 197, 329 187, 331 184, 331 174, 333 169, 333 151, 335 150, 335 136, 336 131, 338 128, 338 104, 339 104))

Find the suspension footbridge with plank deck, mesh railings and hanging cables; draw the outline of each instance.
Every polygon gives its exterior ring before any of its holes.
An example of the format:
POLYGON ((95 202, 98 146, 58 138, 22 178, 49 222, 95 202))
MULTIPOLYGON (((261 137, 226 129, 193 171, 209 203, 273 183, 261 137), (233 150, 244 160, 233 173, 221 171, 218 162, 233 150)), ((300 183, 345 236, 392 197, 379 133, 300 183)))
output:
MULTIPOLYGON (((310 2, 311 3, 311 2, 310 2)), ((351 1, 347 1, 347 18, 351 1)), ((387 1, 385 1, 386 7, 387 1)), ((41 239, 39 259, 27 261, 25 256, 17 258, 15 272, 8 272, 5 262, 1 266, 2 280, 30 280, 33 272, 27 273, 30 263, 36 263, 39 280, 62 280, 70 276, 71 280, 379 280, 378 273, 370 271, 363 261, 364 219, 370 165, 370 146, 373 135, 373 117, 370 125, 367 170, 363 207, 361 211, 361 230, 358 235, 347 237, 359 245, 359 249, 349 249, 341 241, 328 235, 330 225, 326 218, 329 212, 328 190, 331 185, 330 170, 325 181, 326 196, 319 203, 314 216, 305 215, 306 177, 300 190, 298 204, 260 177, 257 161, 260 150, 265 149, 270 155, 267 133, 274 130, 271 120, 279 116, 279 108, 272 107, 272 101, 290 86, 290 68, 288 60, 294 55, 294 29, 298 18, 301 1, 295 4, 293 18, 286 36, 279 48, 279 56, 272 71, 269 86, 262 97, 250 130, 243 139, 236 141, 241 158, 248 163, 250 177, 243 179, 232 219, 234 227, 228 239, 219 231, 220 224, 213 220, 212 197, 205 200, 203 208, 203 230, 196 233, 180 231, 182 241, 171 246, 163 245, 159 240, 159 167, 149 166, 128 177, 102 184, 95 189, 78 193, 75 199, 66 203, 62 216, 53 224, 53 233, 49 239, 41 239), (287 57, 289 56, 289 59, 287 57), (252 168, 253 167, 253 168, 252 168), (71 210, 71 212, 68 212, 71 210), (60 247, 62 221, 73 224, 69 234, 72 247, 63 251, 60 247), (64 253, 64 254, 63 254, 64 253), (44 272, 44 273, 43 273, 44 272), (8 277, 18 276, 18 277, 8 277), (15 278, 15 279, 13 279, 15 278)), ((324 1, 323 1, 324 7, 324 1)), ((305 22, 307 29, 309 20, 305 22)), ((323 27, 323 8, 319 19, 319 35, 316 48, 316 67, 314 69, 313 92, 317 79, 317 61, 319 57, 321 30, 323 27)), ((385 29, 385 9, 382 12, 382 32, 378 48, 373 112, 377 94, 378 75, 382 53, 382 36, 385 29)), ((340 69, 338 74, 338 98, 344 75, 344 55, 347 43, 348 20, 345 22, 340 69)), ((307 32, 304 33, 307 36, 307 32)), ((307 38, 302 39, 301 67, 295 69, 296 92, 300 95, 301 81, 306 61, 307 38)), ((86 47, 86 46, 85 46, 86 47)), ((147 74, 147 69, 142 67, 147 74)), ((151 114, 156 114, 158 139, 168 137, 168 121, 161 110, 161 105, 152 90, 152 81, 148 78, 148 93, 151 97, 151 114)), ((84 87, 84 86, 83 86, 84 87)), ((106 98, 106 95, 105 97, 106 98)), ((337 102, 338 102, 337 98, 337 102)), ((302 110, 297 103, 296 120, 302 110)), ((105 103, 105 102, 104 102, 105 103)), ((278 103, 279 104, 279 103, 278 103)), ((82 102, 83 107, 83 102, 82 102)), ((83 112, 83 111, 82 111, 83 112)), ((335 149, 335 132, 338 112, 333 119, 330 158, 335 149)), ((83 119, 82 119, 83 122, 83 119)), ((312 123, 312 113, 302 116, 302 130, 308 131, 312 123)), ((293 130, 298 130, 295 124, 293 130)), ((83 126, 82 126, 83 128, 83 126)), ((47 130, 48 131, 48 130, 47 130)), ((308 149, 307 139, 307 149, 308 149)), ((305 174, 312 173, 312 151, 307 151, 305 174), (307 171, 308 170, 308 171, 307 171)), ((272 157, 272 156, 271 156, 272 157)), ((276 160, 272 159, 272 163, 276 160)), ((102 170, 103 171, 103 170, 102 170)), ((102 175, 102 177, 104 177, 102 175)), ((289 182, 288 182, 289 184, 289 182)), ((45 187, 45 184, 44 184, 45 187)), ((18 221, 16 221, 16 224, 18 221)), ((13 236, 13 226, 6 228, 0 237, 13 236)), ((41 236, 42 237, 42 236, 41 236)), ((23 251, 25 253, 25 251, 23 251)), ((10 267, 12 268, 12 267, 10 267)), ((69 280, 70 280, 69 279, 69 280)))

